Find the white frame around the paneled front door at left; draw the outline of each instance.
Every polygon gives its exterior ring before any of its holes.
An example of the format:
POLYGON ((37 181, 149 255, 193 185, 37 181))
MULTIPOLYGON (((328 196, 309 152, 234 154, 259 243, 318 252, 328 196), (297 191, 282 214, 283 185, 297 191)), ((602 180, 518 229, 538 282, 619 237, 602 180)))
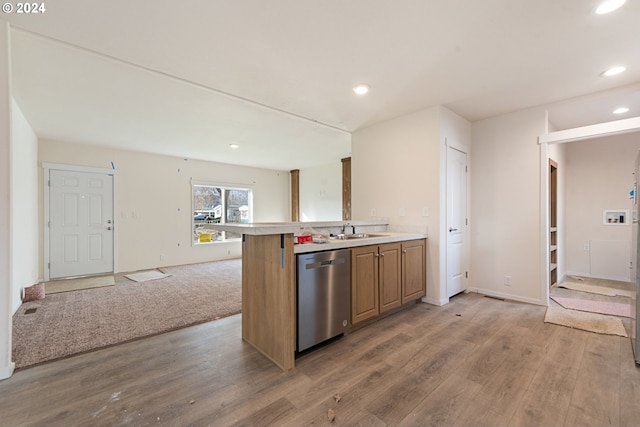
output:
POLYGON ((44 281, 48 282, 50 279, 49 274, 49 262, 51 260, 51 255, 49 253, 49 221, 50 221, 50 212, 49 212, 49 198, 50 198, 50 187, 49 187, 49 176, 51 170, 62 170, 69 172, 88 172, 88 173, 96 173, 102 175, 111 175, 113 176, 113 273, 118 271, 118 219, 115 215, 118 212, 117 200, 118 200, 118 170, 115 169, 107 169, 107 168, 96 168, 91 166, 77 166, 77 165, 67 165, 62 163, 42 163, 43 169, 43 180, 42 180, 42 193, 44 196, 44 207, 43 207, 43 221, 42 221, 42 236, 43 236, 43 257, 42 257, 42 271, 44 272, 44 281))

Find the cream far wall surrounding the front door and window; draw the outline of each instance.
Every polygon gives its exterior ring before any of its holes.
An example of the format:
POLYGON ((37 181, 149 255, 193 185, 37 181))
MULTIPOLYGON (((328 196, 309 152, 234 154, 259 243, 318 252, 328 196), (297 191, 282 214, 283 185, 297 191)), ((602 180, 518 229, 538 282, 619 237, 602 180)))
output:
MULTIPOLYGON (((114 163, 118 170, 114 218, 118 238, 117 271, 241 256, 239 242, 192 246, 192 178, 250 185, 253 188, 254 222, 289 219, 289 172, 286 171, 51 140, 40 141, 38 154, 40 162, 99 168, 111 168, 111 162, 114 163)), ((42 185, 40 187, 39 200, 43 200, 42 185)), ((41 256, 42 253, 41 248, 41 256)))

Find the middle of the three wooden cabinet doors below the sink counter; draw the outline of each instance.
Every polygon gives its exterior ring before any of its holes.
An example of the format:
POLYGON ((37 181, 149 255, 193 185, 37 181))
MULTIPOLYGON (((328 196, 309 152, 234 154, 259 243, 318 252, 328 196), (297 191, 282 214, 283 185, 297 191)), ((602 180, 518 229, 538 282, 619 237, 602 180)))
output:
POLYGON ((389 243, 379 247, 380 313, 401 304, 400 243, 389 243))

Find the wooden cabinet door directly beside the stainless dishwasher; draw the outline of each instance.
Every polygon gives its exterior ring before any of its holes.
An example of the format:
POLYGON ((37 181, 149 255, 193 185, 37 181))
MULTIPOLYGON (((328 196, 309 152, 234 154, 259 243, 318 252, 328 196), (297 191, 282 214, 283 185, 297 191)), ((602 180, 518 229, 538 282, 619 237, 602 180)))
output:
POLYGON ((378 247, 351 249, 351 323, 378 315, 378 247))

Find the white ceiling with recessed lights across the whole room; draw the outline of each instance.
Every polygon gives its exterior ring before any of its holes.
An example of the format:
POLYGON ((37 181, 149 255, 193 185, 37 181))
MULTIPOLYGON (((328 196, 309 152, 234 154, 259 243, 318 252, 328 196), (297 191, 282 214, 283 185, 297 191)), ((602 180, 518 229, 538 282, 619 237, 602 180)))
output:
POLYGON ((598 3, 55 0, 3 19, 38 136, 288 170, 435 105, 473 122, 551 104, 555 129, 640 115, 640 2, 598 3))

